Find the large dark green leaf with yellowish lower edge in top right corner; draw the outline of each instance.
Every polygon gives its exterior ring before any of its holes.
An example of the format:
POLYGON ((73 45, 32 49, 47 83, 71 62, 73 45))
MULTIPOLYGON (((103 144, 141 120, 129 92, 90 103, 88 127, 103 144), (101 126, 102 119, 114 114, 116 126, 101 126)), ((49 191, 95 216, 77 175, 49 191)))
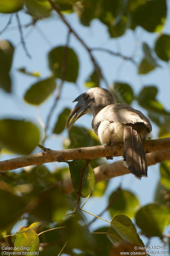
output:
POLYGON ((166 9, 166 0, 144 2, 132 14, 132 27, 141 26, 149 32, 160 32, 166 21, 166 9))

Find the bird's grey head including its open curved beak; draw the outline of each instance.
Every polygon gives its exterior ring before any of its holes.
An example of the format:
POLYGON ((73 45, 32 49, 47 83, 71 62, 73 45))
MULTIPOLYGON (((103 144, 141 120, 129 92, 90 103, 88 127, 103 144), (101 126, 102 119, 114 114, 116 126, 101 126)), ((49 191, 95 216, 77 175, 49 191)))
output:
POLYGON ((78 101, 78 103, 70 112, 65 125, 66 127, 70 119, 74 116, 69 125, 68 131, 76 120, 84 114, 91 113, 95 116, 102 108, 116 103, 115 96, 112 92, 100 87, 91 88, 87 92, 80 94, 73 102, 75 101, 78 101))

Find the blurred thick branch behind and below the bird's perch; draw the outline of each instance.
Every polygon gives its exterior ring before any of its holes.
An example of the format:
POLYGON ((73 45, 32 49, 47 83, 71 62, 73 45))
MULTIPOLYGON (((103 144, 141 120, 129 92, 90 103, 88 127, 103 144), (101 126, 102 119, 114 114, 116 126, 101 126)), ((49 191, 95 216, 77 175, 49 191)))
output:
MULTIPOLYGON (((165 151, 155 151, 146 155, 148 166, 160 163, 170 159, 170 149, 165 151)), ((108 180, 117 176, 130 173, 129 170, 124 167, 123 161, 117 161, 112 164, 102 164, 94 168, 96 183, 101 180, 108 180)), ((66 194, 73 192, 73 186, 71 179, 57 182, 52 186, 60 187, 66 194)))

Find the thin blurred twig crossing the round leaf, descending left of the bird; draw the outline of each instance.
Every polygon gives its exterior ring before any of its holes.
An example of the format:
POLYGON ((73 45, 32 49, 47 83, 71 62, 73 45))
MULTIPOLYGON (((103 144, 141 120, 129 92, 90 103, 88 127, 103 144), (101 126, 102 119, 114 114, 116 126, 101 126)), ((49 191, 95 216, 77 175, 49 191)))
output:
POLYGON ((68 31, 68 35, 67 35, 67 42, 66 42, 66 46, 64 48, 64 58, 63 58, 63 65, 61 67, 61 83, 59 85, 59 88, 58 88, 58 93, 55 97, 55 101, 49 111, 49 114, 47 116, 47 121, 46 121, 46 127, 45 127, 45 131, 44 131, 44 138, 43 138, 43 142, 42 144, 44 144, 46 138, 47 138, 47 130, 49 128, 49 123, 50 123, 50 120, 51 120, 51 117, 52 117, 52 114, 55 110, 55 107, 57 105, 57 102, 61 96, 61 91, 62 91, 62 88, 63 88, 63 84, 64 84, 64 80, 65 80, 65 76, 66 76, 66 73, 67 73, 67 57, 68 57, 68 45, 69 45, 69 41, 70 41, 70 30, 68 31))

